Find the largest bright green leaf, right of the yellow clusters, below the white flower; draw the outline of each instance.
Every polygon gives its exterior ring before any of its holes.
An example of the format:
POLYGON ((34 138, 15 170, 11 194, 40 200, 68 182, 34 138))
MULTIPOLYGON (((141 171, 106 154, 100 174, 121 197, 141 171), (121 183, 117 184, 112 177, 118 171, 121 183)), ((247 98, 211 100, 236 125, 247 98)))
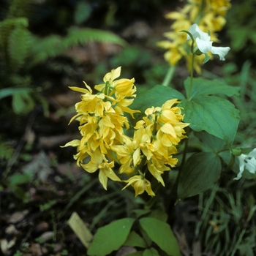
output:
POLYGON ((184 108, 184 122, 195 132, 206 131, 231 147, 239 123, 239 111, 226 99, 214 96, 199 96, 184 99, 179 104, 184 108))

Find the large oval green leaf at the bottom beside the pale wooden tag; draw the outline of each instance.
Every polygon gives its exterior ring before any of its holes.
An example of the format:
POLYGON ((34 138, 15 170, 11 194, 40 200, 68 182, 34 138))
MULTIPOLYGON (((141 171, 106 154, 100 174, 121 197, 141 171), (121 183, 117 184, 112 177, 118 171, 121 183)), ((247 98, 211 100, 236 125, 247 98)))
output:
POLYGON ((133 222, 135 219, 124 218, 111 222, 105 227, 99 227, 87 254, 105 256, 120 248, 127 240, 133 222))

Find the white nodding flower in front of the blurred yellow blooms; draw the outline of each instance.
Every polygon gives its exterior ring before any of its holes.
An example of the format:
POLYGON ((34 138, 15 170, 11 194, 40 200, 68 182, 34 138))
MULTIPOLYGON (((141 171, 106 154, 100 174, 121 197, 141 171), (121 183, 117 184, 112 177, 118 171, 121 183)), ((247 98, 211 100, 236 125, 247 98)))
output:
MULTIPOLYGON (((190 26, 189 33, 192 34, 193 39, 195 39, 195 42, 197 43, 194 53, 197 49, 199 49, 201 53, 205 54, 210 51, 213 54, 219 55, 219 59, 221 61, 225 61, 225 55, 230 50, 229 47, 212 46, 213 41, 211 41, 211 37, 207 33, 201 31, 197 24, 190 26)), ((187 35, 187 39, 192 39, 189 34, 187 35)))

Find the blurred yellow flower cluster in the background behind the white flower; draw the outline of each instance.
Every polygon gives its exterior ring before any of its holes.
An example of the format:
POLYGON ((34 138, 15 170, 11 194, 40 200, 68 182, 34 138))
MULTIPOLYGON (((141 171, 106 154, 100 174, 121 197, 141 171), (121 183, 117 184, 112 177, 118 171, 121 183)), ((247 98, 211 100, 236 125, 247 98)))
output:
MULTIPOLYGON (((185 57, 188 69, 191 68, 192 53, 186 47, 187 34, 181 30, 189 30, 192 24, 197 23, 199 28, 208 33, 211 31, 211 40, 218 42, 216 32, 220 31, 225 25, 225 15, 230 8, 230 0, 188 0, 183 9, 179 12, 170 12, 166 18, 175 20, 170 26, 171 31, 165 33, 168 40, 159 42, 160 48, 167 49, 165 60, 170 65, 176 65, 178 61, 185 57)), ((201 72, 201 64, 204 56, 196 56, 194 67, 197 73, 201 72)))

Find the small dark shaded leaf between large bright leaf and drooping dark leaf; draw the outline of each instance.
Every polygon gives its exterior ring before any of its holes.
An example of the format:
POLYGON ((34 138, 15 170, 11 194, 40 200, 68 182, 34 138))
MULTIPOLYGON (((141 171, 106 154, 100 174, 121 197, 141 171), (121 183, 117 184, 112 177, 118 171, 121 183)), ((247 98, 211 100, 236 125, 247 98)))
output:
POLYGON ((204 152, 214 152, 217 154, 225 146, 224 140, 210 135, 208 132, 195 132, 195 136, 201 141, 204 152))

